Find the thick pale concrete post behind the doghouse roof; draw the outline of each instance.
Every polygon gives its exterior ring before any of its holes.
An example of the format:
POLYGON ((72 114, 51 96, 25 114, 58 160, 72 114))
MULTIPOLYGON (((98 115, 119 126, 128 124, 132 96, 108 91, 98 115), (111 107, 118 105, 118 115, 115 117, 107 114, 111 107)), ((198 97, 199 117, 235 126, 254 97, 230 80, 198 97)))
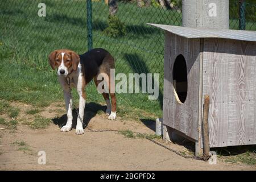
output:
POLYGON ((183 0, 182 25, 229 29, 229 0, 183 0))

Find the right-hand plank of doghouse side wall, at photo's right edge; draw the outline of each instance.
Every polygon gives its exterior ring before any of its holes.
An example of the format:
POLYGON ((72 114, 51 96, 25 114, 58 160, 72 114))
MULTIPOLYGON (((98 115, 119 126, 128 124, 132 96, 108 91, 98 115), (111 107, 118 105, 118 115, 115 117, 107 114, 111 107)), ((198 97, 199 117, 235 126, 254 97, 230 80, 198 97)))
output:
MULTIPOLYGON (((253 144, 255 119, 255 59, 248 55, 249 42, 229 41, 228 145, 253 144)), ((255 56, 254 56, 255 57, 255 56)))

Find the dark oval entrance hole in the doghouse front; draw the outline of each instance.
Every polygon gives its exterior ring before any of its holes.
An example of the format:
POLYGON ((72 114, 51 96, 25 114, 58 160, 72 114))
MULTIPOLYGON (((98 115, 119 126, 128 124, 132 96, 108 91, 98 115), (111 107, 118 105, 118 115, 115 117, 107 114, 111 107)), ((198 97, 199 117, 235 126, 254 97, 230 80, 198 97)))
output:
POLYGON ((187 64, 183 55, 178 55, 172 69, 172 81, 176 100, 184 103, 188 93, 187 64))

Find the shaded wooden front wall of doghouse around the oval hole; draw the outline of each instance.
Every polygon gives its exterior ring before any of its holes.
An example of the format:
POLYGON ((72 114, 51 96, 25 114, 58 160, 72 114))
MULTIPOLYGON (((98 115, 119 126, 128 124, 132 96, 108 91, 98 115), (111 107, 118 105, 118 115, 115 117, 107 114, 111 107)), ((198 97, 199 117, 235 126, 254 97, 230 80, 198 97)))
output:
POLYGON ((163 123, 196 140, 198 139, 199 44, 199 39, 185 39, 166 32, 163 123), (172 84, 172 68, 179 54, 185 57, 188 73, 188 94, 183 104, 177 102, 172 84))

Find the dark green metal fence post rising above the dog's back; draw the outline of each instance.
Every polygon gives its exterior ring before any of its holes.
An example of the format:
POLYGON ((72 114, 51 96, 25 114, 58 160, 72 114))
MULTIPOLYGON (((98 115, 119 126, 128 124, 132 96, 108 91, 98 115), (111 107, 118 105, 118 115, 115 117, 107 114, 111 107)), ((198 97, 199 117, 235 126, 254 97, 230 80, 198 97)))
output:
POLYGON ((88 51, 93 48, 92 40, 92 0, 86 0, 87 9, 87 46, 88 51))

